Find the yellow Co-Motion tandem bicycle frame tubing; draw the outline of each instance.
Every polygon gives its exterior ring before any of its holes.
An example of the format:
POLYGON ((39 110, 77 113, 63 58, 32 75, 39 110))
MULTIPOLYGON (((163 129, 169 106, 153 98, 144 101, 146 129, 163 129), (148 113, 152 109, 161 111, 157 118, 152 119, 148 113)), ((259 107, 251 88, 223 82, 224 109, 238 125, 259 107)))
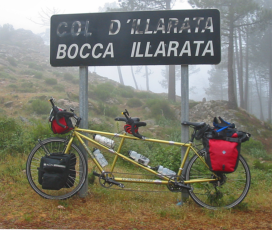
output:
MULTIPOLYGON (((111 165, 111 169, 110 172, 113 172, 113 169, 115 167, 115 164, 117 162, 118 157, 129 161, 130 163, 148 171, 149 173, 154 174, 155 176, 158 176, 159 178, 161 178, 162 180, 159 179, 141 179, 141 178, 114 178, 115 181, 117 182, 129 182, 129 183, 145 183, 145 184, 163 184, 163 185, 167 185, 169 178, 166 176, 161 175, 160 173, 158 173, 157 171, 152 170, 151 168, 148 168, 147 166, 144 166, 140 163, 138 163, 137 161, 134 161, 132 159, 130 159, 129 157, 123 155, 120 153, 121 148, 123 146, 123 143, 125 141, 125 139, 135 139, 135 140, 141 140, 137 137, 134 136, 128 136, 125 132, 123 134, 117 134, 117 133, 111 133, 111 132, 102 132, 102 131, 97 131, 97 130, 88 130, 88 129, 81 129, 79 127, 74 128, 74 130, 72 131, 71 135, 70 135, 70 140, 67 144, 67 148, 65 153, 69 153, 69 149, 71 146, 71 143, 73 142, 74 138, 77 138, 79 140, 79 142, 82 144, 82 146, 85 148, 85 150, 87 151, 88 155, 91 157, 91 159, 93 160, 93 162, 95 163, 95 165, 97 166, 97 168, 99 169, 99 171, 101 173, 105 172, 103 170, 103 168, 101 167, 101 165, 99 164, 99 162, 96 160, 94 154, 92 153, 92 151, 88 148, 88 146, 85 144, 85 142, 83 141, 83 139, 92 142, 93 144, 101 147, 102 149, 105 149, 107 151, 109 151, 112 154, 115 154, 115 158, 113 160, 113 163, 111 165), (87 137, 86 135, 82 134, 82 132, 85 133, 92 133, 92 134, 100 134, 100 135, 105 135, 105 136, 111 136, 111 137, 118 137, 121 138, 120 144, 118 146, 117 151, 109 148, 108 146, 105 146, 103 144, 100 144, 99 142, 95 141, 94 139, 91 139, 89 137, 87 137)), ((185 161, 187 159, 187 156, 189 154, 189 151, 192 150, 195 154, 198 155, 199 159, 201 159, 203 161, 203 163, 207 166, 206 162, 202 159, 202 156, 200 156, 197 151, 195 151, 195 149, 192 147, 192 143, 181 143, 181 142, 173 142, 173 141, 166 141, 166 140, 160 140, 160 139, 151 139, 151 138, 146 138, 142 141, 147 141, 147 142, 155 142, 155 143, 160 143, 160 144, 168 144, 168 145, 174 145, 174 146, 182 146, 182 147, 187 147, 187 150, 185 152, 185 156, 182 159, 179 171, 177 173, 178 176, 181 176, 181 173, 183 171, 184 165, 185 165, 185 161)), ((208 167, 209 168, 209 167, 208 167)), ((214 174, 215 175, 215 174, 214 174)), ((215 181, 218 180, 218 178, 216 179, 211 179, 211 178, 202 178, 202 179, 193 179, 193 180, 185 180, 184 183, 185 184, 189 184, 189 183, 203 183, 203 182, 211 182, 211 181, 215 181)))

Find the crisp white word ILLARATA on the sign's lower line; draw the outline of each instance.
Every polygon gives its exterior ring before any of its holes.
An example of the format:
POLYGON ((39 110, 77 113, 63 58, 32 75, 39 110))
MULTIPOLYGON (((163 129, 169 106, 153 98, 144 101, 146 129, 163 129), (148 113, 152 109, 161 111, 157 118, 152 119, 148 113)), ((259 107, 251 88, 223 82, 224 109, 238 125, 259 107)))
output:
MULTIPOLYGON (((196 44, 194 56, 199 56, 200 47, 205 45, 204 41, 193 41, 190 44, 190 41, 185 41, 182 48, 180 49, 180 43, 178 41, 169 41, 169 44, 166 45, 163 41, 159 42, 156 46, 156 51, 154 54, 150 53, 150 45, 151 42, 147 42, 146 44, 142 44, 142 42, 133 42, 130 57, 157 57, 161 55, 162 57, 181 57, 183 54, 187 54, 187 56, 192 56, 191 46, 196 44), (202 45, 204 44, 204 45, 202 45), (142 48, 141 46, 144 46, 142 48), (166 47, 168 47, 166 49, 166 47), (145 50, 144 53, 140 53, 140 50, 145 50)), ((195 46, 195 45, 194 45, 195 46)), ((201 56, 205 56, 206 54, 210 54, 210 56, 214 56, 214 46, 213 41, 209 40, 205 48, 201 54, 201 56)))

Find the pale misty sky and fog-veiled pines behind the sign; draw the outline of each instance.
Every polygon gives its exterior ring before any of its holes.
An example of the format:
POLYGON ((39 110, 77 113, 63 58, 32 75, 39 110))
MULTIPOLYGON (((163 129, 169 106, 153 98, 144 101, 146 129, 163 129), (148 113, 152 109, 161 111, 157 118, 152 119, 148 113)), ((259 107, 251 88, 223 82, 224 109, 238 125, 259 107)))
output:
MULTIPOLYGON (((189 98, 195 101, 202 101, 204 97, 206 100, 229 100, 234 107, 240 106, 259 119, 271 122, 271 5, 269 0, 103 0, 81 4, 49 0, 44 3, 18 2, 11 7, 6 1, 0 10, 0 39, 5 30, 23 28, 40 35, 49 45, 50 17, 53 14, 218 8, 221 11, 222 61, 216 66, 189 66, 189 98)), ((130 66, 120 67, 119 73, 116 66, 90 66, 89 71, 120 82, 121 70, 125 85, 168 93, 168 68, 148 66, 148 86, 145 67, 133 66, 137 86, 130 66)), ((180 66, 176 66, 175 72, 175 92, 180 96, 180 66)))

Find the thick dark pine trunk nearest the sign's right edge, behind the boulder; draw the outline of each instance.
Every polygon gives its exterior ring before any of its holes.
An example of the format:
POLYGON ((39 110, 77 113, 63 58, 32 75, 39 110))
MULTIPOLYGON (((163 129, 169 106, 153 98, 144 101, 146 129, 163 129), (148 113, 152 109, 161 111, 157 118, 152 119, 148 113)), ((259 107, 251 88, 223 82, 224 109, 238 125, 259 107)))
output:
POLYGON ((237 101, 234 91, 234 75, 233 75, 233 32, 234 23, 230 21, 230 34, 228 45, 228 101, 233 108, 237 107, 237 101))

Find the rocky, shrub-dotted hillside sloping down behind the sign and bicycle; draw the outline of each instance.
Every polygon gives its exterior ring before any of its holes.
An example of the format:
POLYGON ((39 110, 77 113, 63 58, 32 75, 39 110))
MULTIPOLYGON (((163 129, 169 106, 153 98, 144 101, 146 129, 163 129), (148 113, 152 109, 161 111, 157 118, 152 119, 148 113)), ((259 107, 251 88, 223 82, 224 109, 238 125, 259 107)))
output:
MULTIPOLYGON (((27 119, 41 117, 44 119, 49 109, 44 114, 42 112, 39 114, 37 111, 35 113, 31 109, 32 101, 35 99, 44 100, 52 95, 56 99, 64 98, 68 102, 78 102, 78 72, 78 67, 51 67, 49 47, 43 44, 41 37, 33 34, 30 30, 13 30, 9 34, 9 39, 1 40, 0 43, 1 110, 13 117, 20 115, 27 119)), ((128 107, 133 111, 134 116, 144 115, 142 119, 152 120, 154 117, 152 117, 152 113, 149 113, 149 107, 152 106, 150 99, 152 98, 163 100, 166 98, 166 94, 136 92, 132 87, 124 87, 106 77, 89 73, 89 110, 91 113, 92 110, 94 111, 92 116, 99 117, 99 114, 103 114, 102 107, 111 110, 109 113, 112 117, 117 116, 129 101, 128 107), (100 88, 97 87, 99 84, 102 84, 100 88), (109 86, 117 87, 116 92, 109 93, 114 90, 109 86), (132 105, 131 103, 136 104, 132 105), (117 111, 109 109, 111 107, 117 111)), ((75 104, 69 105, 68 103, 67 106, 77 109, 75 104)), ((180 120, 179 103, 170 104, 170 107, 175 118, 180 120)), ((171 116, 169 114, 166 118, 171 116)), ((221 116, 229 122, 235 122, 238 129, 251 132, 253 138, 259 139, 265 146, 271 146, 271 126, 256 119, 245 110, 241 108, 229 109, 228 102, 222 100, 190 103, 189 117, 191 121, 205 121, 211 124, 214 116, 221 116)), ((90 117, 90 119, 97 120, 94 117, 90 117)), ((154 122, 151 123, 154 124, 154 122)))

